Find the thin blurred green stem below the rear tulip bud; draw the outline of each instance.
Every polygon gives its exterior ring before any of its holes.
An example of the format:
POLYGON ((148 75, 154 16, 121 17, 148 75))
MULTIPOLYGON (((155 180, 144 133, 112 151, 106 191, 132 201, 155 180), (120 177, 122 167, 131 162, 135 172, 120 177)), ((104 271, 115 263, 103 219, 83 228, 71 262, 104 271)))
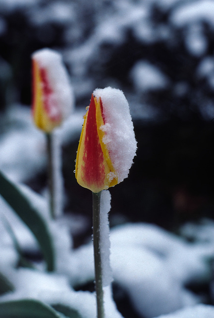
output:
POLYGON ((47 152, 48 152, 48 187, 49 187, 49 209, 52 219, 55 219, 54 204, 54 159, 53 159, 53 134, 47 133, 47 152))

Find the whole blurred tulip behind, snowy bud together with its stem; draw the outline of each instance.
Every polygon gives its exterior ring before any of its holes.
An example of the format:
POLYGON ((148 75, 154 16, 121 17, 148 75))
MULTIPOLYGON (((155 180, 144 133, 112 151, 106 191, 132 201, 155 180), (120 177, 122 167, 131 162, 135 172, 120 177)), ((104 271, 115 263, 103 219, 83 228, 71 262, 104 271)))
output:
POLYGON ((54 50, 42 49, 32 55, 32 95, 34 123, 46 133, 50 213, 54 218, 62 210, 62 198, 59 197, 62 182, 58 178, 60 149, 53 131, 70 115, 73 106, 67 71, 61 55, 54 50))

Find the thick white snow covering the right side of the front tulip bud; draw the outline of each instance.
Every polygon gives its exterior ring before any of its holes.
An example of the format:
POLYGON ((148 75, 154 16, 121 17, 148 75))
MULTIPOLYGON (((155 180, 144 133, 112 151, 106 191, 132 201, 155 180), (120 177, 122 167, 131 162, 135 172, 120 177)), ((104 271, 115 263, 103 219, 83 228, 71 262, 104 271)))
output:
POLYGON ((127 178, 137 149, 129 105, 120 89, 97 88, 93 94, 101 97, 103 102, 105 125, 101 129, 106 132, 103 142, 107 145, 119 183, 127 178))

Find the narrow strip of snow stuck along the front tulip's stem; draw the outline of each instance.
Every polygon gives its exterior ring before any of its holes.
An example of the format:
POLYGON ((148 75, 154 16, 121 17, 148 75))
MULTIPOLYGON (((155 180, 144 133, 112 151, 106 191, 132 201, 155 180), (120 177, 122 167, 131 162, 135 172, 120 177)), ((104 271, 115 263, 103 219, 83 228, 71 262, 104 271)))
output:
POLYGON ((103 286, 112 282, 112 269, 110 267, 110 240, 109 240, 109 222, 108 212, 110 211, 110 192, 104 190, 101 192, 100 203, 100 249, 103 286))

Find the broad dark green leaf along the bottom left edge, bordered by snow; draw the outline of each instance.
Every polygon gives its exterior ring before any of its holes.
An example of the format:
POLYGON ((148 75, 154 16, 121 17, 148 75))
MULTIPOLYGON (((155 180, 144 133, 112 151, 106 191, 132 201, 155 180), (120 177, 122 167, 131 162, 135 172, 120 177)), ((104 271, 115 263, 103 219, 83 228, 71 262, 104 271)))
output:
POLYGON ((1 318, 65 318, 52 307, 31 299, 0 303, 1 318))

